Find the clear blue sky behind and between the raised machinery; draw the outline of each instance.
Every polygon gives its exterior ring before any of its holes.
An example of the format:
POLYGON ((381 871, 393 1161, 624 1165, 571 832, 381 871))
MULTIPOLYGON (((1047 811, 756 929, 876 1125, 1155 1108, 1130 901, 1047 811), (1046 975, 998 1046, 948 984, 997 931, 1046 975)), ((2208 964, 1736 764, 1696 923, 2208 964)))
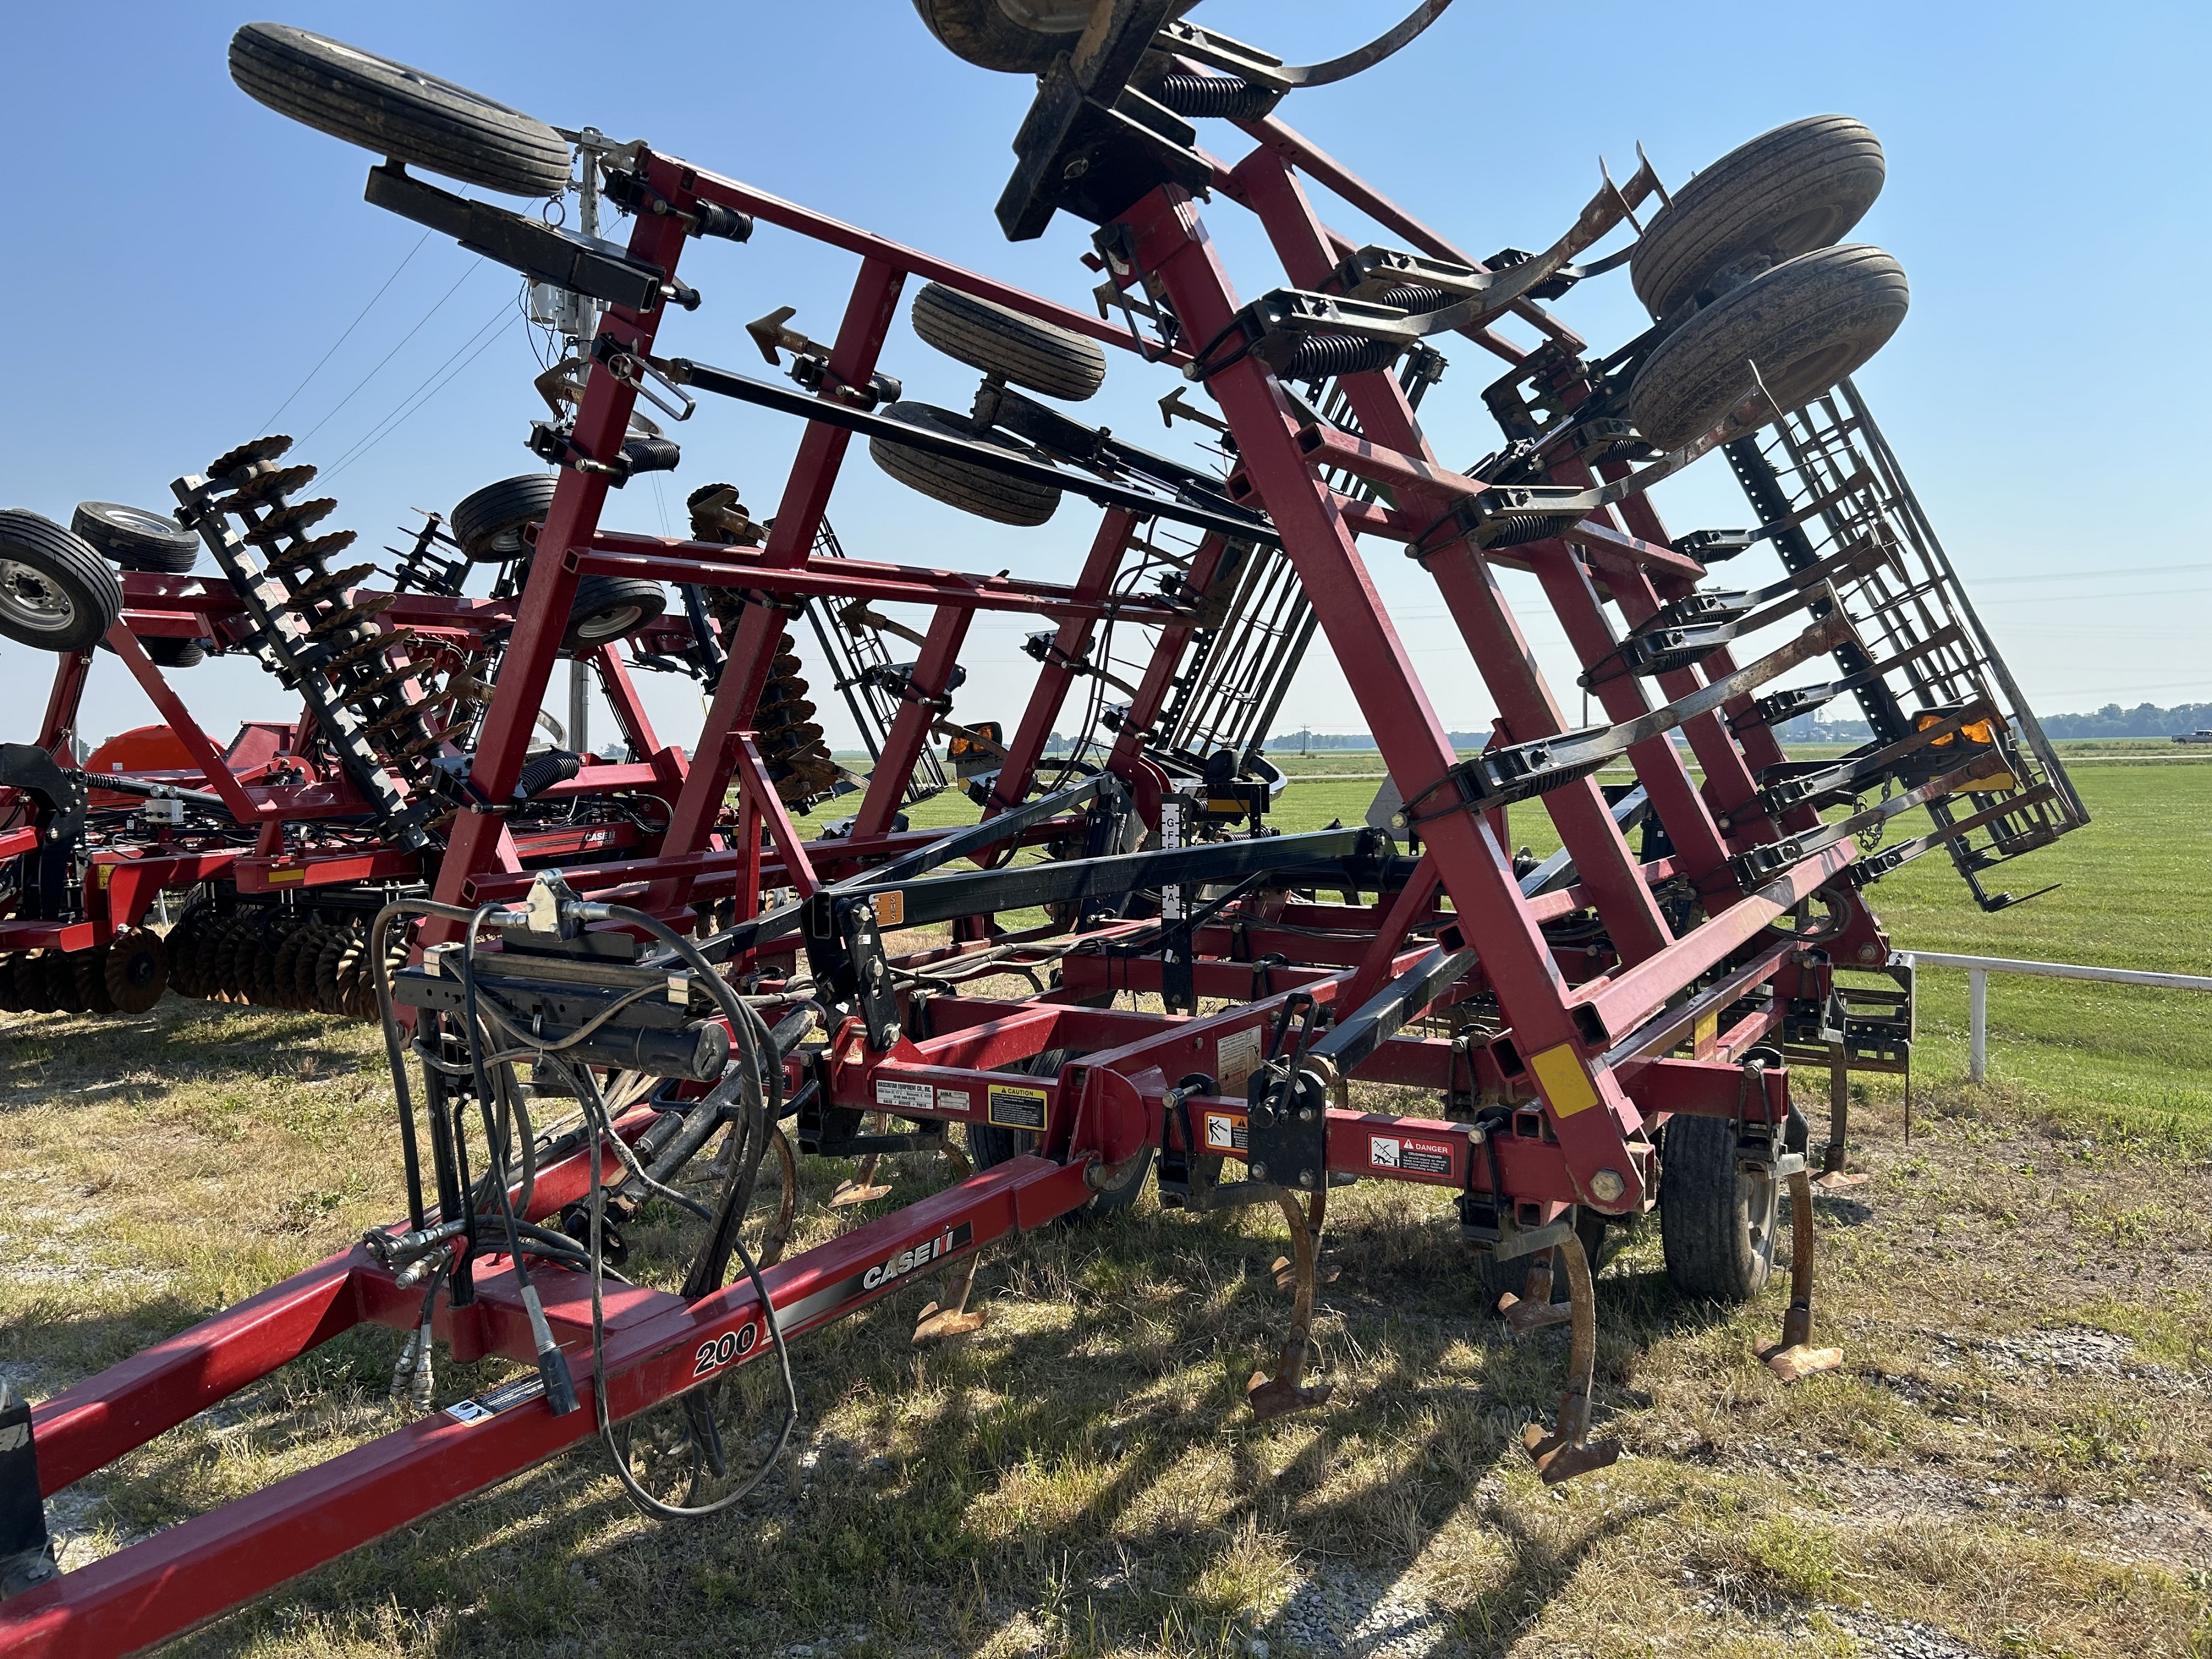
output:
MULTIPOLYGON (((1376 33, 1402 4, 1210 0, 1199 20, 1310 60, 1376 33)), ((341 500, 332 524, 369 546, 394 540, 409 507, 449 509, 533 467, 522 436, 542 407, 513 279, 438 239, 418 248, 418 228, 361 201, 372 157, 239 93, 223 51, 248 15, 9 2, 18 206, 0 261, 13 321, 0 504, 64 522, 84 498, 161 504, 170 478, 270 429, 279 409, 274 429, 301 438, 299 458, 321 465, 341 500)), ((998 234, 991 204, 1026 86, 947 55, 905 0, 617 11, 303 0, 274 15, 560 126, 646 137, 1071 303, 1095 281, 1077 265, 1086 228, 1073 221, 1024 246, 998 234)), ((2031 701, 2051 712, 2201 701, 2212 699, 2199 504, 2212 201, 2194 111, 2208 15, 1462 0, 1400 60, 1303 93, 1285 115, 1478 254, 1548 243, 1595 186, 1597 157, 1626 177, 1639 139, 1679 181, 1778 122, 1863 117, 1889 153, 1889 186, 1854 234, 1898 254, 1913 312, 1858 380, 2031 701)), ((1230 157, 1243 148, 1219 124, 1206 142, 1230 157)), ((1327 215, 1369 230, 1334 204, 1327 215)), ((1239 210, 1217 204, 1208 223, 1243 292, 1281 281, 1239 210)), ((796 305, 796 327, 827 334, 852 268, 774 230, 745 248, 695 248, 684 274, 706 305, 677 316, 664 347, 759 369, 745 321, 796 305)), ((1626 272, 1559 310, 1599 347, 1639 325, 1626 272)), ((1113 356, 1086 418, 1181 449, 1152 407, 1175 380, 1113 356)), ((1464 465, 1495 447, 1478 396, 1493 372, 1471 345, 1451 356, 1425 416, 1444 458, 1464 465)), ((885 367, 909 396, 964 407, 973 389, 905 327, 885 367)), ((794 436, 787 420, 706 409, 681 431, 684 469, 633 484, 608 522, 679 526, 684 493, 717 478, 772 511, 794 436)), ((1719 460, 1663 487, 1661 509, 1677 529, 1745 522, 1719 460)), ((1044 531, 1002 531, 900 489, 858 451, 832 518, 863 557, 1057 577, 1073 575, 1093 522, 1071 500, 1044 531)), ((1489 699, 1433 588, 1391 546, 1371 560, 1438 710, 1458 728, 1486 723, 1489 699)), ((1557 630, 1522 591, 1531 639, 1564 684, 1557 630)), ((1013 619, 978 626, 958 714, 1018 714, 1033 670, 1022 633, 1013 619)), ((0 644, 13 692, 0 739, 33 732, 49 672, 38 653, 0 644)), ((217 734, 290 712, 246 661, 181 684, 217 734)), ((655 679, 648 695, 664 739, 688 745, 688 681, 655 679)), ((84 734, 146 719, 150 706, 102 659, 84 734)), ((1318 653, 1285 706, 1283 723, 1301 721, 1358 726, 1318 653)))

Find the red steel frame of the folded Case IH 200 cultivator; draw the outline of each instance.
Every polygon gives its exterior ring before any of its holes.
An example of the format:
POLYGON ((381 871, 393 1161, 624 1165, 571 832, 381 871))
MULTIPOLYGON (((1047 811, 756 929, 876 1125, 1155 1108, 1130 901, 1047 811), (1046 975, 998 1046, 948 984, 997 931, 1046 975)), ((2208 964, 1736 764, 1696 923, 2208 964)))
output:
MULTIPOLYGON (((1217 166, 1214 184, 1223 197, 1259 215, 1294 285, 1316 285, 1349 248, 1316 217, 1301 173, 1425 252, 1464 259, 1279 122, 1250 122, 1245 131, 1259 139, 1259 148, 1234 168, 1217 166)), ((719 204, 860 257, 825 385, 869 380, 909 274, 1119 347, 1133 345, 1117 325, 951 268, 672 157, 641 153, 639 168, 677 215, 701 201, 719 204)), ((1197 204, 1183 190, 1152 190, 1124 215, 1124 226, 1137 270, 1117 270, 1117 281, 1155 279, 1172 301, 1186 338, 1210 338, 1230 323, 1237 294, 1197 204)), ((679 217, 637 219, 630 234, 635 259, 672 276, 681 252, 679 217)), ((1537 307, 1520 310, 1555 341, 1579 345, 1537 307)), ((659 325, 659 312, 617 307, 608 312, 604 332, 619 349, 650 356, 659 325)), ((1473 338, 1509 361, 1522 358, 1498 334, 1480 330, 1473 338)), ((1183 358, 1170 354, 1170 361, 1183 358)), ((1256 358, 1214 374, 1208 385, 1237 438, 1239 471, 1230 491, 1265 507, 1383 748, 1391 779, 1405 799, 1422 796, 1451 772, 1458 757, 1376 593, 1358 538, 1411 540, 1438 520, 1451 495, 1480 487, 1436 462, 1413 411, 1385 372, 1354 374, 1340 383, 1360 425, 1358 440, 1343 440, 1338 434, 1318 434, 1316 440, 1305 429, 1305 416, 1256 358), (1387 478, 1396 489, 1396 507, 1340 495, 1321 478, 1325 467, 1387 478)), ((575 425, 575 447, 586 456, 613 451, 626 431, 633 400, 628 383, 593 369, 575 425)), ((929 699, 942 690, 975 611, 1033 611, 1057 624, 1060 650, 1046 659, 1015 726, 998 794, 987 812, 1011 810, 1031 792, 1044 737, 1075 677, 1071 661, 1088 644, 1093 624, 1108 615, 1106 593, 1137 520, 1126 509, 1108 509, 1071 586, 818 560, 812 546, 845 453, 843 427, 807 425, 774 531, 761 549, 602 531, 597 518, 604 476, 562 471, 538 535, 529 584, 500 613, 502 619, 513 617, 513 637, 473 759, 473 776, 487 799, 500 801, 513 790, 553 672, 562 619, 582 575, 633 573, 719 584, 770 599, 748 606, 734 639, 726 641, 728 668, 690 754, 653 745, 653 763, 619 768, 624 776, 606 779, 619 787, 661 792, 672 812, 666 834, 635 858, 571 869, 580 889, 637 898, 666 916, 684 916, 697 900, 734 894, 739 914, 750 916, 757 914, 763 887, 790 885, 805 894, 836 872, 856 872, 874 858, 927 845, 929 836, 889 834, 887 825, 905 768, 927 741, 929 699), (929 604, 933 615, 916 670, 916 701, 902 708, 894 726, 878 783, 860 807, 854 836, 801 847, 752 748, 750 723, 783 628, 783 611, 774 602, 812 593, 918 602, 929 604), (633 776, 637 772, 650 772, 650 783, 633 776), (726 810, 732 783, 739 787, 734 818, 726 810)), ((1194 555, 1188 584, 1203 588, 1221 555, 1221 538, 1208 538, 1194 555)), ((1703 575, 1694 560, 1668 546, 1663 526, 1639 498, 1606 509, 1564 538, 1520 546, 1509 555, 1458 542, 1429 551, 1425 564, 1502 710, 1502 732, 1511 741, 1557 732, 1564 719, 1506 606, 1495 573, 1500 564, 1537 573, 1584 664, 1595 664, 1615 644, 1599 584, 1632 624, 1703 575)), ((133 599, 135 611, 115 639, 117 650, 148 692, 155 692, 164 712, 173 712, 175 699, 164 701, 157 692, 159 672, 124 635, 128 626, 148 633, 179 628, 184 624, 173 622, 179 611, 206 617, 221 608, 221 597, 206 591, 153 593, 150 584, 133 580, 133 599)), ((1146 741, 1194 617, 1166 602, 1115 602, 1113 613, 1159 630, 1108 761, 1139 810, 1146 803, 1157 810, 1161 772, 1146 759, 1146 741)), ((1681 697, 1730 668, 1725 657, 1714 657, 1701 668, 1661 677, 1659 690, 1670 699, 1681 697)), ((73 708, 82 672, 84 659, 64 664, 55 690, 58 710, 64 703, 73 708)), ((619 666, 608 690, 628 695, 619 666)), ((1644 690, 1630 679, 1606 684, 1599 697, 1617 719, 1648 706, 1644 690)), ((181 712, 181 703, 175 703, 175 712, 181 712)), ((887 1051, 869 1048, 860 1022, 847 1020, 832 1037, 823 1071, 830 1104, 874 1110, 911 1099, 898 1084, 931 1084, 936 1110, 898 1106, 905 1117, 980 1121, 989 1079, 1002 1079, 1006 1066, 1055 1046, 1084 1057, 1064 1066, 1057 1077, 1033 1079, 1048 1097, 1040 1155, 984 1170, 770 1270, 770 1296, 783 1310, 785 1329, 803 1332, 883 1294, 894 1281, 880 1274, 867 1279, 867 1270, 896 1259, 900 1250, 931 1239, 958 1239, 947 1243, 945 1254, 978 1250, 1082 1203, 1088 1197, 1091 1164, 1119 1161, 1146 1144, 1172 1148, 1181 1128, 1166 1110, 1166 1097, 1177 1077, 1214 1077, 1219 1093, 1192 1097, 1190 1108, 1241 1121, 1245 1099, 1237 1091, 1239 1068, 1250 1071, 1250 1064, 1237 1055, 1250 1053, 1248 1033, 1270 1026, 1292 993, 1310 995, 1323 1009, 1356 1009, 1376 987, 1418 962, 1431 949, 1429 936, 1464 942, 1480 953, 1480 964, 1449 987, 1440 1004, 1493 993, 1509 1029, 1473 1046, 1396 1035, 1356 1068, 1356 1077, 1411 1084, 1469 1102, 1502 1102, 1515 1108, 1511 1128, 1486 1133, 1460 1117, 1409 1119, 1336 1108, 1327 1121, 1329 1168, 1511 1199, 1524 1225, 1542 1225, 1566 1206, 1593 1206, 1613 1214, 1646 1208, 1652 1177, 1648 1133, 1666 1115, 1734 1117, 1747 1110, 1778 1121, 1787 1113, 1785 1071, 1765 1071, 1756 1097, 1745 1102, 1739 1060, 1770 1037, 1787 1000, 1825 993, 1827 969, 1825 958, 1809 953, 1796 938, 1772 931, 1774 925, 1820 894, 1836 900, 1849 918, 1843 942, 1834 949, 1856 947, 1858 960, 1887 956, 1871 914, 1847 887, 1836 885, 1854 856, 1851 843, 1801 860, 1756 891, 1743 891, 1732 878, 1730 854, 1805 823, 1803 816, 1770 823, 1750 805, 1754 770, 1774 763, 1781 752, 1759 726, 1732 730, 1728 717, 1736 712, 1741 703, 1686 726, 1686 739, 1705 774, 1703 787, 1692 783, 1683 759, 1663 739, 1641 743, 1628 757, 1677 847, 1668 858, 1641 863, 1599 792, 1588 781, 1568 783, 1542 801, 1575 856, 1573 887, 1524 896, 1504 825, 1493 814, 1442 812, 1422 823, 1425 852, 1413 876, 1402 887, 1380 891, 1374 905, 1292 900, 1272 914, 1223 916, 1203 927, 1197 936, 1197 987, 1203 998, 1230 1002, 1219 1013, 1177 1018, 1097 1006, 1119 989, 1159 989, 1159 958, 1108 962, 1102 956, 1068 956, 1062 987, 1042 998, 911 995, 911 1018, 902 1022, 909 1035, 887 1051), (1694 925, 1670 925, 1655 900, 1655 885, 1677 876, 1701 894, 1705 918, 1694 925), (1449 909, 1440 900, 1449 900, 1449 909), (1546 922, 1584 909, 1597 914, 1613 940, 1608 960, 1593 964, 1579 953, 1564 960, 1544 936, 1546 922), (1259 958, 1272 958, 1274 964, 1259 958), (1717 969, 1728 969, 1725 978, 1694 989, 1717 969), (1741 1004, 1752 989, 1770 982, 1778 993, 1772 1011, 1747 1013, 1730 1029, 1719 1026, 1723 1009, 1741 1004), (1686 1002, 1679 1000, 1683 991, 1692 991, 1686 1002), (1686 1044, 1690 1053, 1677 1053, 1686 1044), (1411 1133, 1449 1148, 1449 1168, 1416 1172, 1380 1166, 1371 1137, 1383 1133, 1411 1133), (1484 1146, 1480 1157, 1478 1146, 1484 1146), (1493 1168, 1502 1186, 1495 1192, 1493 1168)), ((55 728, 55 717, 49 717, 49 728, 55 728)), ((639 730, 650 743, 650 728, 639 730)), ((60 730, 49 730, 49 739, 58 741, 60 730)), ((597 783, 597 772, 593 768, 586 779, 597 783)), ((254 814, 290 816, 294 810, 292 799, 263 799, 228 781, 228 772, 217 776, 212 763, 208 779, 226 787, 226 799, 237 794, 254 814)), ((593 783, 580 779, 575 787, 593 783)), ((1053 838, 1068 827, 1071 821, 1060 821, 1031 830, 1026 838, 1053 838)), ((511 834, 500 812, 465 810, 453 823, 436 896, 465 905, 511 900, 529 885, 529 863, 531 847, 511 834)), ((1117 929, 1126 925, 1108 925, 1102 936, 1117 929)), ((969 942, 933 951, 929 960, 980 945, 982 929, 969 927, 960 938, 969 942)), ((542 1214, 557 1208, 582 1192, 584 1183, 582 1155, 542 1172, 533 1210, 542 1214)), ((538 1272, 538 1281, 555 1332, 575 1352, 584 1329, 577 1323, 582 1281, 551 1265, 538 1272)), ((476 1310, 465 1310, 467 1316, 458 1323, 451 1310, 440 1314, 447 1340, 462 1356, 500 1352, 529 1360, 531 1340, 511 1279, 487 1265, 476 1283, 476 1310)), ((611 1307, 606 1387, 615 1416, 690 1387, 701 1374, 695 1369, 701 1365, 699 1356, 719 1352, 717 1340, 726 1334, 754 1334, 750 1343, 741 1338, 743 1347, 732 1363, 768 1347, 757 1340, 761 1314, 748 1285, 699 1303, 617 1290, 611 1307)), ((44 1486, 58 1491, 80 1480, 349 1325, 372 1321, 407 1327, 411 1316, 414 1296, 400 1294, 363 1250, 334 1256, 38 1407, 35 1444, 44 1486)), ((577 1387, 584 1394, 599 1387, 582 1358, 577 1387)), ((24 1655, 82 1655, 157 1641, 575 1444, 588 1433, 588 1413, 555 1418, 531 1402, 473 1425, 434 1416, 396 1429, 254 1498, 184 1522, 11 1599, 0 1606, 0 1646, 24 1655)))

